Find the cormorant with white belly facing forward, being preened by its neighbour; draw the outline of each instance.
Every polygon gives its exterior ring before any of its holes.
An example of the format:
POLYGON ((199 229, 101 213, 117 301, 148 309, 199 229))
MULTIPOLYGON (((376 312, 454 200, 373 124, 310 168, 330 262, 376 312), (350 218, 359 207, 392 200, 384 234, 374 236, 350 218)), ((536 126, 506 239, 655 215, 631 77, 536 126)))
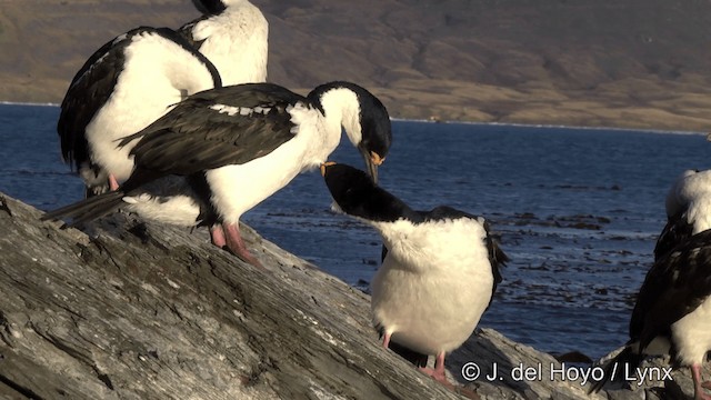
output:
POLYGON ((398 344, 411 361, 435 356, 434 369, 415 363, 447 383, 444 356, 471 336, 508 261, 489 224, 450 207, 414 211, 350 166, 327 162, 321 172, 334 209, 371 224, 383 239, 387 251, 371 284, 383 347, 398 344))

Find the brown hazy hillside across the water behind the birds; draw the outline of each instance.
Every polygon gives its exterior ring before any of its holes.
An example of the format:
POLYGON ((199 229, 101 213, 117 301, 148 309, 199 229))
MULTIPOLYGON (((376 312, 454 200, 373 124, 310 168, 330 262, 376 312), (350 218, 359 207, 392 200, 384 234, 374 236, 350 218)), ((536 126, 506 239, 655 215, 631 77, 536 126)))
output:
MULTIPOLYGON (((711 3, 663 0, 253 0, 270 80, 336 79, 398 118, 711 129, 711 3)), ((59 102, 102 43, 178 27, 189 0, 0 0, 0 100, 59 102)))

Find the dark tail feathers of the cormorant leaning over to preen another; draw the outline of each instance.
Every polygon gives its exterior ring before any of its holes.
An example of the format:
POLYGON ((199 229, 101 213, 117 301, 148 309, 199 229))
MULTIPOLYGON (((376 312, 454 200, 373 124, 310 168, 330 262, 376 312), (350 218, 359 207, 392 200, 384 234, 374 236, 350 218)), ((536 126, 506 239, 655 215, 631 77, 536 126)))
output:
POLYGON ((40 217, 40 220, 47 221, 71 218, 71 222, 66 226, 77 227, 111 213, 121 206, 123 196, 126 194, 121 190, 101 193, 60 209, 49 211, 44 216, 40 217))

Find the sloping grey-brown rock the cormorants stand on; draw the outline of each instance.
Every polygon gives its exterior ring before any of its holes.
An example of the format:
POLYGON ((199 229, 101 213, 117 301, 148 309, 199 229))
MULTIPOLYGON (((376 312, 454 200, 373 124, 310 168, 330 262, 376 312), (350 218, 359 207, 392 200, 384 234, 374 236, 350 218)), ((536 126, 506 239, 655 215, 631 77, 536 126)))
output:
POLYGON ((248 227, 263 269, 201 230, 119 213, 86 234, 0 201, 0 398, 588 398, 554 358, 491 329, 449 358, 460 386, 437 383, 380 347, 368 296, 248 227))

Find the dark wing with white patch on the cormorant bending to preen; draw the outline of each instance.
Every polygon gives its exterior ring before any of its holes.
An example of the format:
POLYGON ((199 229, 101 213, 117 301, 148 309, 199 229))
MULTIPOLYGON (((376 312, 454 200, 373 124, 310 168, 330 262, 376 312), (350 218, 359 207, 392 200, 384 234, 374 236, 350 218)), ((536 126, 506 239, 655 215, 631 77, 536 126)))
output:
POLYGON ((206 90, 119 146, 140 139, 131 150, 137 169, 191 174, 241 164, 269 154, 294 137, 290 107, 307 100, 271 83, 206 90))

